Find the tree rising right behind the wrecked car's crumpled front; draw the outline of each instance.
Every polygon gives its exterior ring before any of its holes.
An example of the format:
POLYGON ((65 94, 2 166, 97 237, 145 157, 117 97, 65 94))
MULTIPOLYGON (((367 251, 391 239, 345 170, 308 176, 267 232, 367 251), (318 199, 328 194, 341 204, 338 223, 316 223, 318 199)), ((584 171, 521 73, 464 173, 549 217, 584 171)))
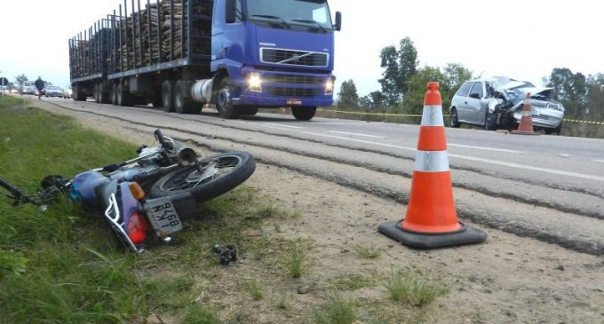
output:
POLYGON ((567 67, 561 67, 552 70, 547 86, 554 88, 554 99, 560 101, 568 116, 582 118, 585 114, 587 95, 585 83, 583 74, 573 74, 567 67))

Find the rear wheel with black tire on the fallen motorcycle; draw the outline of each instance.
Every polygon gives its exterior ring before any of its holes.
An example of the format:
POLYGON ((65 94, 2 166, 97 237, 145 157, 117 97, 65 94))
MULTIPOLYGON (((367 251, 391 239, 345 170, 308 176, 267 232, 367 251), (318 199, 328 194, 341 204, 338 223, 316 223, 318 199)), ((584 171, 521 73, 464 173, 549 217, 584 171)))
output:
POLYGON ((207 166, 216 162, 216 173, 201 182, 201 174, 196 165, 173 170, 151 187, 152 198, 190 193, 197 202, 204 202, 225 194, 241 185, 256 170, 256 162, 250 154, 228 152, 202 159, 199 164, 207 166))

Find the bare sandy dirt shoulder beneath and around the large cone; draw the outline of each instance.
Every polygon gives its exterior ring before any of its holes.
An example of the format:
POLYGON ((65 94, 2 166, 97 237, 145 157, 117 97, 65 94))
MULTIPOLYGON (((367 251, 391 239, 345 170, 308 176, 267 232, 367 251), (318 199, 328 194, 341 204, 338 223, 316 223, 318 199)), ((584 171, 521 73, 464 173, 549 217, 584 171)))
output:
MULTIPOLYGON (((135 130, 107 128, 98 117, 69 115, 87 127, 134 143, 152 140, 135 130)), ((312 241, 313 262, 309 273, 298 280, 263 275, 253 259, 228 269, 253 274, 267 287, 259 301, 237 296, 227 281, 215 291, 223 304, 232 305, 220 315, 239 319, 235 322, 312 322, 312 312, 333 297, 329 285, 334 278, 361 274, 375 279, 374 284, 338 293, 360 306, 359 323, 604 323, 604 257, 485 228, 481 229, 489 237, 483 244, 409 249, 377 233, 381 223, 404 216, 406 206, 399 203, 263 164, 246 184, 283 209, 299 211, 300 217, 283 221, 278 231, 267 224, 263 232, 312 241), (357 246, 377 249, 380 256, 362 257, 357 246), (392 269, 409 267, 440 278, 450 288, 449 295, 423 309, 394 303, 380 279, 392 269), (308 291, 300 294, 300 287, 308 291)))

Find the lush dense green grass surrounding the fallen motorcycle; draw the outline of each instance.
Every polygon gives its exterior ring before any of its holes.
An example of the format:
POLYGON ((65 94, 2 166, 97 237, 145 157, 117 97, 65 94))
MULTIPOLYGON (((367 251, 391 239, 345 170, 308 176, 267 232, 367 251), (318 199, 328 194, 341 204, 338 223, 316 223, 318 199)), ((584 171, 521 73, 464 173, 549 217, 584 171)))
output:
MULTIPOLYGON (((12 97, 0 98, 0 124, 0 177, 28 193, 46 175, 71 178, 136 154, 137 145, 12 97)), ((173 246, 157 244, 142 255, 120 249, 102 217, 65 198, 44 212, 13 207, 0 195, 0 323, 144 322, 152 313, 219 323, 206 305, 191 306, 195 275, 212 278, 216 241, 242 243, 242 231, 271 217, 272 209, 250 209, 255 194, 242 186, 204 203, 207 221, 187 223, 173 246), (200 267, 199 260, 211 261, 200 267)), ((266 242, 255 244, 263 249, 266 242)))

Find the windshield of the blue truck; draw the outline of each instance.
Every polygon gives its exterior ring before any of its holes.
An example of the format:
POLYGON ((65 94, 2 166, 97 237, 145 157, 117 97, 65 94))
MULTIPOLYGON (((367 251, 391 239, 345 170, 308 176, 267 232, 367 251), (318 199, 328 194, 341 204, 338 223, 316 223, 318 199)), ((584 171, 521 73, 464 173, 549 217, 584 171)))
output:
POLYGON ((332 29, 326 0, 248 0, 247 12, 250 20, 270 26, 332 29))

